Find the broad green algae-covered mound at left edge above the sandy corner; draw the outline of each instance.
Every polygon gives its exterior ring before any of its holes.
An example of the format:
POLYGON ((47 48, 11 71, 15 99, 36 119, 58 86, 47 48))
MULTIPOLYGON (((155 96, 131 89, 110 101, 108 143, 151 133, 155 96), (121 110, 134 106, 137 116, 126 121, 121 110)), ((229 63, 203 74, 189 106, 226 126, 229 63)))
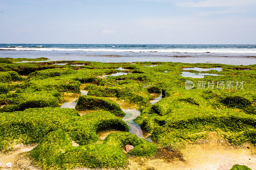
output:
POLYGON ((39 142, 48 132, 65 126, 79 114, 70 108, 30 108, 0 113, 0 151, 15 144, 39 142))

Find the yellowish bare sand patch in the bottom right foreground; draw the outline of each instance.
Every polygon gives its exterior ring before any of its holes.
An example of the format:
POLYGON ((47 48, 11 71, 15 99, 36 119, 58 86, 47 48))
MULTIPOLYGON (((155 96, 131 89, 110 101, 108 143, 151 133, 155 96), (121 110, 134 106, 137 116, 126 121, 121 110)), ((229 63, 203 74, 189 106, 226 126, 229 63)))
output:
POLYGON ((180 151, 165 152, 162 159, 130 158, 128 167, 134 170, 229 170, 239 164, 256 169, 256 152, 252 144, 236 147, 215 132, 208 135, 207 140, 186 142, 186 147, 180 151))

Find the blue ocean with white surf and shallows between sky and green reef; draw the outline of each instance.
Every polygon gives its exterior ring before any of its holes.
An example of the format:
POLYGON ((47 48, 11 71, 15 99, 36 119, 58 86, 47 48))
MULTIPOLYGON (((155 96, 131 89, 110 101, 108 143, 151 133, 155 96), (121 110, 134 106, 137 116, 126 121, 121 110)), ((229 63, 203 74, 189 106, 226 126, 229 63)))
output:
POLYGON ((0 57, 51 61, 256 64, 255 44, 0 44, 0 57))

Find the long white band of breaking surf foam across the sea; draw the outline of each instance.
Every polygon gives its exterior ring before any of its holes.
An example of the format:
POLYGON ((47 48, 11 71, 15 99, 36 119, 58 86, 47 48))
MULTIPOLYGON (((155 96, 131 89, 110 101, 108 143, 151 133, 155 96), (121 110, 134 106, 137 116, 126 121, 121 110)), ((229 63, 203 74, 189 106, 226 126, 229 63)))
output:
MULTIPOLYGON (((13 49, 13 48, 0 48, 13 49)), ((15 50, 36 50, 36 51, 101 51, 101 52, 181 52, 181 53, 256 53, 256 48, 171 48, 171 49, 111 49, 111 48, 22 48, 15 50)))

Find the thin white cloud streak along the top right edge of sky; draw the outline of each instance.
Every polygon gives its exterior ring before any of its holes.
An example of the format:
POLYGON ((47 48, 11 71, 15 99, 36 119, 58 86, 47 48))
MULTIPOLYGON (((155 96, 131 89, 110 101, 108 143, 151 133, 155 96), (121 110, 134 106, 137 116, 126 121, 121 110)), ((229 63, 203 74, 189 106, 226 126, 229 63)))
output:
POLYGON ((232 7, 232 6, 245 6, 245 5, 256 5, 255 0, 206 0, 200 2, 181 2, 176 3, 178 7, 196 7, 196 8, 207 8, 207 7, 232 7))

